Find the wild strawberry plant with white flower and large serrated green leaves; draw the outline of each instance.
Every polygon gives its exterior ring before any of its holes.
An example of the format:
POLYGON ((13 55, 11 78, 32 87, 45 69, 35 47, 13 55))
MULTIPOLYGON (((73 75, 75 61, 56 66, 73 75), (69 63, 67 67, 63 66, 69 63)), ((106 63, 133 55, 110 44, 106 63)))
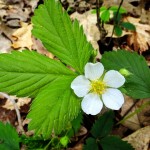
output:
MULTIPOLYGON (((104 103, 118 110, 124 103, 122 93, 135 99, 150 97, 150 70, 145 59, 125 50, 106 52, 101 59, 103 65, 97 62, 100 66, 93 69, 96 50, 87 41, 82 26, 76 20, 71 21, 59 1, 45 0, 35 10, 32 23, 33 35, 57 59, 29 50, 0 54, 0 91, 34 98, 27 118, 31 120, 29 130, 34 130, 36 136, 49 139, 71 125, 77 131, 82 119, 76 118, 82 109, 96 115, 104 103), (83 80, 76 83, 78 77, 83 80), (91 95, 96 98, 93 100, 91 95), (96 101, 99 107, 90 100, 96 101)), ((60 143, 66 146, 67 137, 72 135, 72 130, 68 130, 60 143)), ((111 141, 111 137, 108 138, 111 141)))

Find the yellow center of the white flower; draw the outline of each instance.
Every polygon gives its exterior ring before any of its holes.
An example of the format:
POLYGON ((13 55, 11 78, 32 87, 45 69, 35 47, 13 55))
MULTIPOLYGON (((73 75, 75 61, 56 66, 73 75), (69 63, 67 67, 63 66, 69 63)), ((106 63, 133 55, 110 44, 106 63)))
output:
POLYGON ((96 94, 103 94, 106 89, 106 84, 103 81, 91 81, 91 92, 96 94))

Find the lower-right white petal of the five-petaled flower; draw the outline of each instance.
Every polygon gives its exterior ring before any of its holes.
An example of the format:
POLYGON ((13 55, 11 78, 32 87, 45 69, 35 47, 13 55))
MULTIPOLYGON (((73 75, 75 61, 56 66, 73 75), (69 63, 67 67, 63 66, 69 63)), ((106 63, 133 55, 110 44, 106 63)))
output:
POLYGON ((107 108, 113 110, 119 110, 123 103, 123 94, 118 89, 108 88, 104 94, 102 94, 102 100, 107 108))

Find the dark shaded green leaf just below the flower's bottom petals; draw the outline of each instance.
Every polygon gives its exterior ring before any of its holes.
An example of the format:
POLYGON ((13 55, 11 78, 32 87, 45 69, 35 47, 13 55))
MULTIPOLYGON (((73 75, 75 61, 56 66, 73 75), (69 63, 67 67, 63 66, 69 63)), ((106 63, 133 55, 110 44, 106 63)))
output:
POLYGON ((113 127, 114 114, 108 111, 94 123, 91 133, 95 138, 102 138, 108 135, 113 127))

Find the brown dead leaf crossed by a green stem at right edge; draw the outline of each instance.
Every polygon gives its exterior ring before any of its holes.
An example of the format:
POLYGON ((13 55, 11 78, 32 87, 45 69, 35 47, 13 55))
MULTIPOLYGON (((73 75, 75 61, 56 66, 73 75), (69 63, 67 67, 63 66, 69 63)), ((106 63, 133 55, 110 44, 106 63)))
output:
MULTIPOLYGON (((137 101, 137 100, 136 100, 137 101)), ((126 112, 133 106, 135 100, 130 97, 125 97, 125 104, 122 107, 121 115, 124 116, 126 112)), ((141 99, 137 101, 134 107, 124 117, 121 123, 131 129, 138 130, 143 126, 150 125, 150 99, 141 99)))

